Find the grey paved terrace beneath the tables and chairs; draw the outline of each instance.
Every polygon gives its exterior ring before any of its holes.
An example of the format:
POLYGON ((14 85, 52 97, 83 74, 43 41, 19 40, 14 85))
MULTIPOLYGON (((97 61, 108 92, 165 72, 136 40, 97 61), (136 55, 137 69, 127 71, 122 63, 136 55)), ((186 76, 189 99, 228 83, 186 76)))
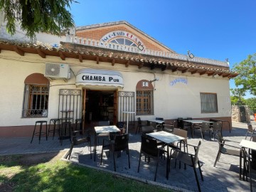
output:
MULTIPOLYGON (((240 142, 242 139, 245 139, 246 132, 247 124, 233 122, 231 133, 229 131, 223 131, 223 137, 240 142)), ((204 181, 201 181, 201 177, 197 169, 198 178, 201 183, 201 191, 250 191, 250 183, 239 180, 238 157, 222 154, 220 156, 220 161, 214 168, 213 164, 218 152, 218 142, 210 141, 208 134, 206 134, 206 139, 202 141, 201 134, 198 130, 196 130, 194 139, 191 139, 190 136, 191 134, 188 132, 188 144, 197 145, 199 141, 202 142, 201 149, 199 151, 199 159, 201 169, 203 171, 204 181)), ((60 146, 57 137, 55 137, 55 139, 50 137, 48 138, 48 141, 46 141, 46 138, 43 137, 41 144, 38 144, 37 137, 34 138, 32 144, 30 144, 30 141, 31 138, 5 139, 0 137, 0 155, 62 151, 68 150, 70 146, 69 140, 65 140, 63 142, 63 146, 60 146)), ((102 144, 101 141, 100 144, 102 144)), ((97 147, 96 161, 93 161, 93 156, 92 159, 90 159, 90 151, 88 150, 87 146, 75 147, 73 149, 73 154, 70 161, 81 164, 82 166, 89 166, 97 170, 108 171, 112 174, 119 174, 127 178, 134 178, 142 182, 161 185, 177 191, 198 191, 193 168, 187 166, 186 170, 184 170, 183 165, 181 165, 181 169, 178 169, 178 166, 174 168, 173 160, 171 161, 169 180, 167 180, 165 177, 166 159, 164 158, 159 162, 156 182, 154 182, 154 171, 156 164, 153 160, 151 160, 149 164, 146 164, 144 161, 144 156, 142 156, 140 172, 137 173, 139 163, 140 134, 134 134, 132 129, 129 137, 131 169, 128 167, 127 155, 125 152, 123 152, 121 157, 117 159, 117 172, 114 172, 112 155, 107 158, 107 153, 103 154, 102 165, 100 166, 100 153, 102 149, 100 144, 97 147)), ((237 146, 239 145, 237 144, 237 146)), ((252 181, 252 185, 253 191, 255 191, 255 180, 252 181)))

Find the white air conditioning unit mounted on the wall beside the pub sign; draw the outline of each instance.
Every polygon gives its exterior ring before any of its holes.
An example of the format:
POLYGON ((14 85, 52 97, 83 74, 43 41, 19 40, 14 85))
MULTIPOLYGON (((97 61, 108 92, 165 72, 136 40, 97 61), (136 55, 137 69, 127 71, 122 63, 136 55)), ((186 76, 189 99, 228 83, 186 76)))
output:
POLYGON ((70 79, 70 66, 68 64, 46 63, 45 77, 49 79, 70 79))

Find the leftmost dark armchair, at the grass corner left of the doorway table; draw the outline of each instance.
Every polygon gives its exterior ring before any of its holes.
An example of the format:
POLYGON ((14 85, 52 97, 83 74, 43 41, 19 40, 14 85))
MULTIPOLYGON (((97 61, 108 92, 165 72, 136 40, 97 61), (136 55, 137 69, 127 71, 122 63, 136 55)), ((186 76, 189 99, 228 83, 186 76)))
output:
POLYGON ((92 159, 92 148, 91 148, 92 144, 91 144, 90 134, 86 134, 85 136, 77 135, 77 134, 80 134, 80 132, 73 130, 70 149, 68 150, 68 153, 64 156, 64 158, 70 159, 74 146, 87 143, 90 150, 90 159, 92 159))

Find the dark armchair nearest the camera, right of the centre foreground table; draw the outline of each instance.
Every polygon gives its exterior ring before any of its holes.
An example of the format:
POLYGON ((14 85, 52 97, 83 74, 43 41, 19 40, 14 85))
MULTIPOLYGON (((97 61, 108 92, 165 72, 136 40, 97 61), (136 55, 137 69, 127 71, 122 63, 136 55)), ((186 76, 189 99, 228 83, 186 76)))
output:
MULTIPOLYGON (((196 166, 198 165, 198 169, 201 175, 201 180, 203 181, 203 174, 201 171, 201 166, 198 160, 198 152, 201 146, 201 141, 198 142, 198 146, 193 146, 191 144, 184 144, 186 147, 191 146, 195 150, 194 154, 188 153, 188 151, 181 151, 180 149, 171 149, 171 154, 175 154, 171 156, 171 158, 180 161, 181 163, 193 167, 194 174, 196 176, 196 183, 198 186, 198 191, 201 191, 200 183, 198 181, 198 175, 196 174, 196 166)), ((185 166, 186 169, 186 166, 185 166)))

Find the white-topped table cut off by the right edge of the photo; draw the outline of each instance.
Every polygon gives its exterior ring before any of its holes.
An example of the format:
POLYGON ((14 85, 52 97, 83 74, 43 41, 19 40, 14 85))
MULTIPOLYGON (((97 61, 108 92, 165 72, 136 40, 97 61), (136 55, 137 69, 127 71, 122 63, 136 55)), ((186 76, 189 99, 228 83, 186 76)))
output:
MULTIPOLYGON (((248 161, 249 161, 249 177, 250 177, 250 188, 251 188, 251 191, 252 191, 252 177, 251 177, 251 170, 250 170, 250 151, 251 150, 256 150, 256 142, 252 142, 252 141, 249 141, 249 140, 245 140, 245 139, 242 139, 242 142, 240 142, 239 144, 241 146, 241 151, 242 150, 245 150, 245 148, 249 149, 248 151, 248 161)), ((241 179, 241 159, 242 159, 242 153, 245 153, 244 151, 243 152, 240 152, 240 169, 239 169, 239 178, 241 179)), ((244 171, 243 171, 243 176, 242 176, 242 180, 245 180, 245 154, 243 155, 244 157, 244 171)), ((255 159, 252 159, 252 164, 255 164, 255 159)))

